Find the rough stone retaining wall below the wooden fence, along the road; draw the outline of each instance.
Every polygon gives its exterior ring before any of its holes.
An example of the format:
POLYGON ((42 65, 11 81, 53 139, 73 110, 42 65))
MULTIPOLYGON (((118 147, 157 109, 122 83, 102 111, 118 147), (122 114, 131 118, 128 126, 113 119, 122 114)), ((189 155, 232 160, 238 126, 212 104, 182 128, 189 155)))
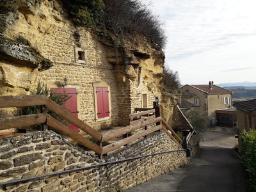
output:
MULTIPOLYGON (((74 147, 52 131, 13 134, 2 138, 0 144, 1 182, 178 148, 161 131, 109 153, 103 160, 74 147)), ((131 188, 185 163, 186 152, 172 152, 1 186, 0 191, 117 191, 131 188)))

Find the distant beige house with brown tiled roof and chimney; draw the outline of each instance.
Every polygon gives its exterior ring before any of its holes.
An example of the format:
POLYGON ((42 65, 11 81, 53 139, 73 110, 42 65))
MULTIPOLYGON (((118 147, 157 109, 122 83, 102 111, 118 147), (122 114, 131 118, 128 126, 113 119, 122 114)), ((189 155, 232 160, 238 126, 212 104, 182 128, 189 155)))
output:
POLYGON ((232 106, 232 91, 216 86, 213 81, 209 81, 209 84, 186 84, 180 90, 195 94, 192 97, 194 104, 201 113, 209 117, 212 124, 216 123, 216 109, 227 109, 232 106))

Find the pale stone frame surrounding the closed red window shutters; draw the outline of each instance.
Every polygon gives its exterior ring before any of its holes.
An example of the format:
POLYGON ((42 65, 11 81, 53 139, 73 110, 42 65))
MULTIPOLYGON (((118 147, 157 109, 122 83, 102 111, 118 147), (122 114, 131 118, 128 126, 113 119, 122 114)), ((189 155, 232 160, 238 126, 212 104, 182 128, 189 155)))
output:
POLYGON ((94 111, 95 111, 95 122, 100 122, 104 120, 109 120, 111 119, 111 91, 110 91, 110 86, 108 83, 104 81, 96 81, 92 83, 93 86, 93 96, 94 96, 94 111), (97 103, 97 93, 96 93, 96 88, 97 87, 107 87, 108 92, 109 92, 109 97, 108 97, 108 105, 109 105, 109 116, 103 117, 103 118, 98 118, 97 113, 98 113, 98 103, 97 103))

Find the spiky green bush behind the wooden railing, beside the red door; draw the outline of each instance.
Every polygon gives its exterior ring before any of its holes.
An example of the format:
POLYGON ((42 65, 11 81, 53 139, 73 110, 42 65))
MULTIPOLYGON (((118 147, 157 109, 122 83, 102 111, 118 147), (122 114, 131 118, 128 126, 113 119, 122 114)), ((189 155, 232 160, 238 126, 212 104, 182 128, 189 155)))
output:
MULTIPOLYGON (((44 83, 38 83, 36 90, 31 93, 31 95, 45 95, 49 97, 49 99, 53 100, 56 102, 56 104, 63 106, 65 102, 70 99, 70 96, 67 95, 66 93, 61 94, 61 93, 54 93, 51 92, 49 86, 47 86, 44 83)), ((37 113, 42 113, 41 111, 41 106, 28 106, 24 108, 20 108, 17 112, 16 116, 20 115, 32 115, 32 114, 37 114, 37 113)), ((56 113, 53 113, 52 111, 47 110, 47 113, 51 115, 53 118, 56 118, 56 120, 59 120, 60 122, 63 122, 63 119, 56 115, 56 113)), ((65 123, 65 122, 63 122, 65 123)), ((40 129, 41 125, 33 125, 30 127, 31 129, 40 129)))

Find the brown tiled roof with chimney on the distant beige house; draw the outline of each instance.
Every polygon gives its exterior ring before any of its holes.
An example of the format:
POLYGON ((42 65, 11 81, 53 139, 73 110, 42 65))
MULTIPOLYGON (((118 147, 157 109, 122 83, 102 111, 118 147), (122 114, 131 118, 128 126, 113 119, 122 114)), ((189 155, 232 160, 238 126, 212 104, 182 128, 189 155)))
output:
POLYGON ((197 88, 198 90, 201 90, 202 92, 207 92, 210 95, 232 93, 232 91, 227 90, 225 88, 221 88, 220 86, 216 86, 214 84, 211 86, 211 88, 209 88, 209 84, 192 84, 190 86, 193 86, 194 88, 197 88))

